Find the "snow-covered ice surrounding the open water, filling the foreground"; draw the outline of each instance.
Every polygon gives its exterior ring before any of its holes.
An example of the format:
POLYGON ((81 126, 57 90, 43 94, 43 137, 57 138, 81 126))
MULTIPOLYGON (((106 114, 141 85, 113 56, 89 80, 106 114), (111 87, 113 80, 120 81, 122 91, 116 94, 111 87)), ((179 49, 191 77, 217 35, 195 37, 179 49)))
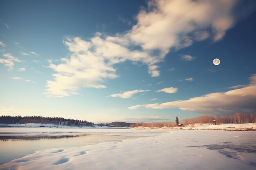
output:
MULTIPOLYGON (((1 128, 2 134, 61 128, 1 128), (7 130, 8 129, 8 130, 7 130), (4 132, 5 131, 5 132, 4 132)), ((51 148, 15 159, 0 170, 254 170, 256 132, 220 130, 69 129, 140 136, 123 141, 51 148)))

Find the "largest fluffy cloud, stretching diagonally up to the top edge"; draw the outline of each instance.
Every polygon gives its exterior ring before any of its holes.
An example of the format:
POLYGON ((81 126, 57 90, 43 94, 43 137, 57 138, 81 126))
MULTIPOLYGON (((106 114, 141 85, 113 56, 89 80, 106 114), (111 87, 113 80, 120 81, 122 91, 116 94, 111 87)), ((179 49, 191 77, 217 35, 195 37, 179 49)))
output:
MULTIPOLYGON (((63 43, 71 55, 61 64, 49 62, 56 73, 47 81, 45 94, 63 97, 78 94, 81 87, 106 88, 106 79, 117 78, 114 64, 131 61, 148 66, 152 77, 160 75, 159 62, 171 49, 194 42, 221 40, 235 18, 234 0, 151 0, 141 9, 132 29, 114 36, 96 33, 90 40, 67 37, 63 43)), ((189 56, 189 55, 188 55, 189 56)), ((193 57, 185 57, 192 60, 193 57), (191 59, 192 58, 192 59, 191 59)))

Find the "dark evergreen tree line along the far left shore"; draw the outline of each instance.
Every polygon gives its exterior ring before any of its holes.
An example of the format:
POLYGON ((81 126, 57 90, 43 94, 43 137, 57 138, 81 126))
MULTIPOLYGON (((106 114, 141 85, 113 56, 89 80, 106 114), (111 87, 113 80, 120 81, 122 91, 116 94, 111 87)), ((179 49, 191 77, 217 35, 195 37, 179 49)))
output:
POLYGON ((67 126, 94 126, 94 123, 87 120, 65 119, 63 117, 42 117, 42 116, 1 116, 0 124, 56 124, 67 126))

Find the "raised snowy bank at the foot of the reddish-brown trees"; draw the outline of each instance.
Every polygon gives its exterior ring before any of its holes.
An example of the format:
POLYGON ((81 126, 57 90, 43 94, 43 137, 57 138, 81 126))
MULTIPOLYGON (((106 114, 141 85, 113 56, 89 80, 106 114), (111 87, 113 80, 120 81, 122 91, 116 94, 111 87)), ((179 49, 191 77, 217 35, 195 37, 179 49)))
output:
POLYGON ((235 131, 255 131, 256 123, 250 124, 189 124, 187 126, 177 127, 136 127, 139 129, 172 129, 172 130, 235 130, 235 131))

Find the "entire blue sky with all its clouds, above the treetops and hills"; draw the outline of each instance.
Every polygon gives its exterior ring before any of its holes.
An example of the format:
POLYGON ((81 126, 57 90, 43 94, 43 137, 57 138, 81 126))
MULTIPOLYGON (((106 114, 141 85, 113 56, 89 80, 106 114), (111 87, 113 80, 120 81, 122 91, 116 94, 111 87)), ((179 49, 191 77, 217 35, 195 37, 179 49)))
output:
POLYGON ((0 115, 255 113, 255 18, 253 0, 0 0, 0 115))

